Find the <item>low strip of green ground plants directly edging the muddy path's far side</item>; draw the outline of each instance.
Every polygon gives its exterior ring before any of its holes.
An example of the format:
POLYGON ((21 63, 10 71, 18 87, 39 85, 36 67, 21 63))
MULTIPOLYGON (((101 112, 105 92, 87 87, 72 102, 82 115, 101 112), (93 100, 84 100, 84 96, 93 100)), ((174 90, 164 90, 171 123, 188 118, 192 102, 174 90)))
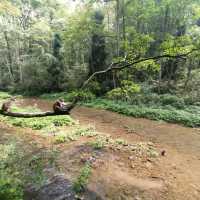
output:
POLYGON ((137 118, 148 118, 157 121, 163 120, 166 122, 182 124, 188 127, 200 126, 200 115, 195 112, 193 113, 193 110, 189 109, 190 107, 183 110, 176 109, 174 107, 170 107, 170 109, 168 107, 153 108, 145 105, 129 105, 124 102, 117 103, 106 99, 96 99, 89 103, 84 103, 84 105, 110 110, 137 118))

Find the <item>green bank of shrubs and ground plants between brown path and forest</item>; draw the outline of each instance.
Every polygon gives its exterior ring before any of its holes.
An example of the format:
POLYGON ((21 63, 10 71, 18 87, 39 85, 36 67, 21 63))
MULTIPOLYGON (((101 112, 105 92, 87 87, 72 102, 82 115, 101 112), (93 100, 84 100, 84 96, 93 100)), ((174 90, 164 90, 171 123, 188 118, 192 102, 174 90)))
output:
MULTIPOLYGON (((178 97, 172 94, 156 94, 145 88, 139 92, 139 86, 134 86, 133 91, 114 89, 106 97, 82 100, 80 103, 89 107, 101 108, 133 117, 163 120, 178 123, 188 127, 200 126, 200 106, 190 97, 178 97), (136 88, 135 88, 136 87, 136 88), (136 90, 135 90, 136 89, 136 90)), ((42 98, 53 99, 62 97, 68 99, 66 93, 44 94, 42 98)))

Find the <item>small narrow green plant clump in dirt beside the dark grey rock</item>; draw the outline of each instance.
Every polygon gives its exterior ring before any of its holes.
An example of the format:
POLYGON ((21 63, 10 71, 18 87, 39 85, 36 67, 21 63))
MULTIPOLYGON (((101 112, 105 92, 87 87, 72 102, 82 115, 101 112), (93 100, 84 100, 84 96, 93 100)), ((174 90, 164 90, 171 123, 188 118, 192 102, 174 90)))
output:
POLYGON ((73 189, 76 193, 81 193, 84 191, 85 186, 88 183, 88 179, 91 175, 91 166, 89 164, 86 164, 80 171, 80 175, 78 178, 74 181, 73 189))

